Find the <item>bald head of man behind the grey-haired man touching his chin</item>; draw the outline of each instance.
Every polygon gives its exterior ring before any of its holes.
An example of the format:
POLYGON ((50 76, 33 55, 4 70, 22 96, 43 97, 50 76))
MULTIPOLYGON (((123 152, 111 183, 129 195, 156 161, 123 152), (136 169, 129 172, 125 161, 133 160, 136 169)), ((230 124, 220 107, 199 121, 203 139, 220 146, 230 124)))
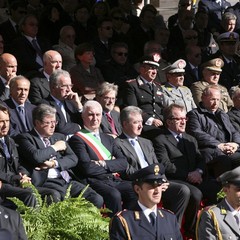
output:
POLYGON ((54 70, 61 68, 62 68, 62 56, 59 52, 49 50, 44 53, 43 69, 48 75, 51 75, 54 70))

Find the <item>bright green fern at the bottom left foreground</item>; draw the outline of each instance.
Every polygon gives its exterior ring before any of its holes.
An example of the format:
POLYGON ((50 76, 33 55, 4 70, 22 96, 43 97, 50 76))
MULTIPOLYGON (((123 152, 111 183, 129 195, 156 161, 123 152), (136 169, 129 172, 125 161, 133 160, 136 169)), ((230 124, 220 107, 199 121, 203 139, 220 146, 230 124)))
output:
POLYGON ((18 206, 29 240, 109 239, 109 218, 102 217, 100 210, 82 197, 84 191, 71 198, 69 188, 64 201, 48 206, 33 185, 27 186, 37 198, 35 208, 26 207, 19 199, 11 200, 18 206))

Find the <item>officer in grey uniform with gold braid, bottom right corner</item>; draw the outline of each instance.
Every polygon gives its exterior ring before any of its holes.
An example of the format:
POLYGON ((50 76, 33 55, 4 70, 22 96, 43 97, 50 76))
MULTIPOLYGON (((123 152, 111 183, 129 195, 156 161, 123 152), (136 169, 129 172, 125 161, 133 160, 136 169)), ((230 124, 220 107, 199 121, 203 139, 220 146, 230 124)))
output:
POLYGON ((240 167, 219 176, 225 198, 216 206, 204 209, 198 219, 199 240, 240 239, 240 167))

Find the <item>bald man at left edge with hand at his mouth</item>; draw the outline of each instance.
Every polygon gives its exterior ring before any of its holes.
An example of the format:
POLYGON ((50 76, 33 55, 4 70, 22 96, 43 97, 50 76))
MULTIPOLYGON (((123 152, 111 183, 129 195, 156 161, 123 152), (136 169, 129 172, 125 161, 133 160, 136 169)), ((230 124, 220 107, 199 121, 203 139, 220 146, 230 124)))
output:
POLYGON ((3 53, 0 56, 0 100, 4 101, 9 98, 10 80, 16 77, 17 59, 9 53, 3 53))

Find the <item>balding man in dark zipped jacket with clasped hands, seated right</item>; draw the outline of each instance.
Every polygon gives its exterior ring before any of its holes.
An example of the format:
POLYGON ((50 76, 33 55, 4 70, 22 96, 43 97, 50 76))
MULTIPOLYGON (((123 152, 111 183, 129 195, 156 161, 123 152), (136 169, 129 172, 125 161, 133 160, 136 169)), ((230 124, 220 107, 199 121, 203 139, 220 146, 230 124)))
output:
POLYGON ((221 91, 209 85, 199 107, 188 113, 187 132, 198 141, 199 150, 215 177, 240 165, 240 133, 219 108, 221 91))

